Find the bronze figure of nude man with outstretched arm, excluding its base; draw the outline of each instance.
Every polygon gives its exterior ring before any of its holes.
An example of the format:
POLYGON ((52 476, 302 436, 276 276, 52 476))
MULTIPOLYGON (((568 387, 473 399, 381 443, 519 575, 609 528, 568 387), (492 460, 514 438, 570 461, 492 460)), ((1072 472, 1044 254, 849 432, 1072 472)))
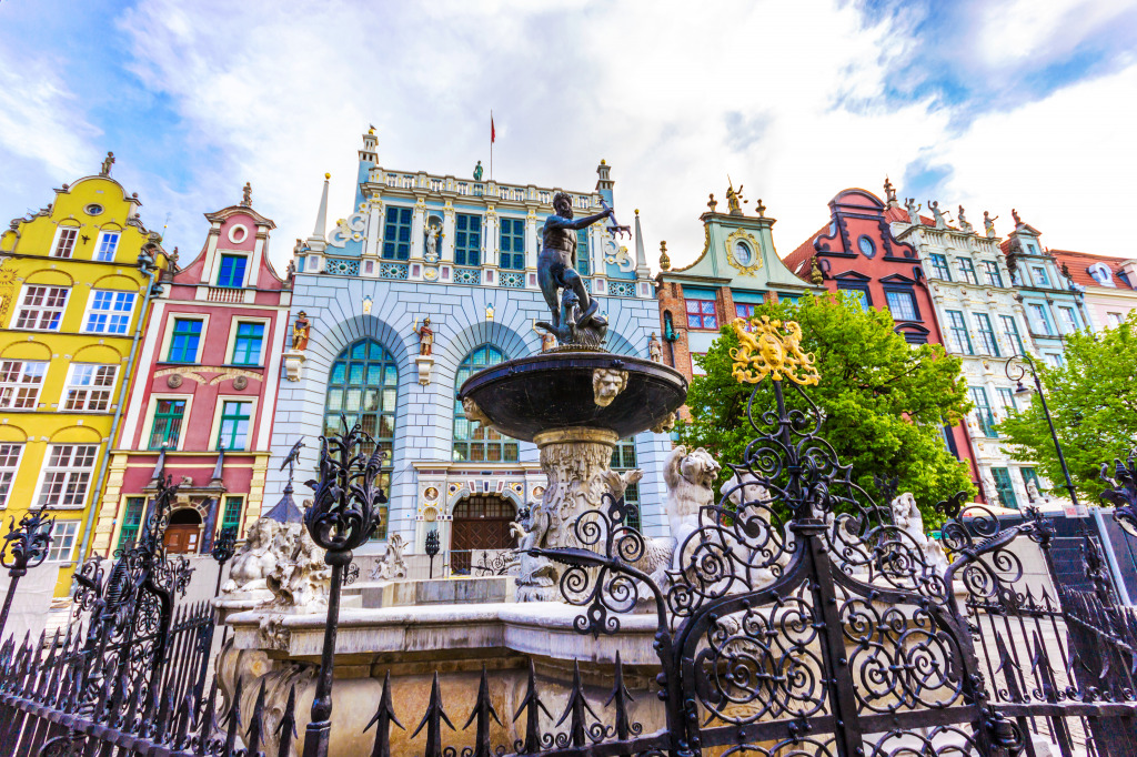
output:
POLYGON ((541 252, 537 256, 537 283, 541 286, 545 301, 553 313, 554 328, 561 327, 561 302, 557 290, 575 292, 580 300, 580 318, 576 327, 586 326, 596 315, 599 302, 589 297, 584 280, 576 273, 576 230, 587 228, 597 221, 609 218, 608 208, 595 216, 573 219, 572 198, 564 192, 553 196, 553 215, 545 219, 541 230, 541 252))

